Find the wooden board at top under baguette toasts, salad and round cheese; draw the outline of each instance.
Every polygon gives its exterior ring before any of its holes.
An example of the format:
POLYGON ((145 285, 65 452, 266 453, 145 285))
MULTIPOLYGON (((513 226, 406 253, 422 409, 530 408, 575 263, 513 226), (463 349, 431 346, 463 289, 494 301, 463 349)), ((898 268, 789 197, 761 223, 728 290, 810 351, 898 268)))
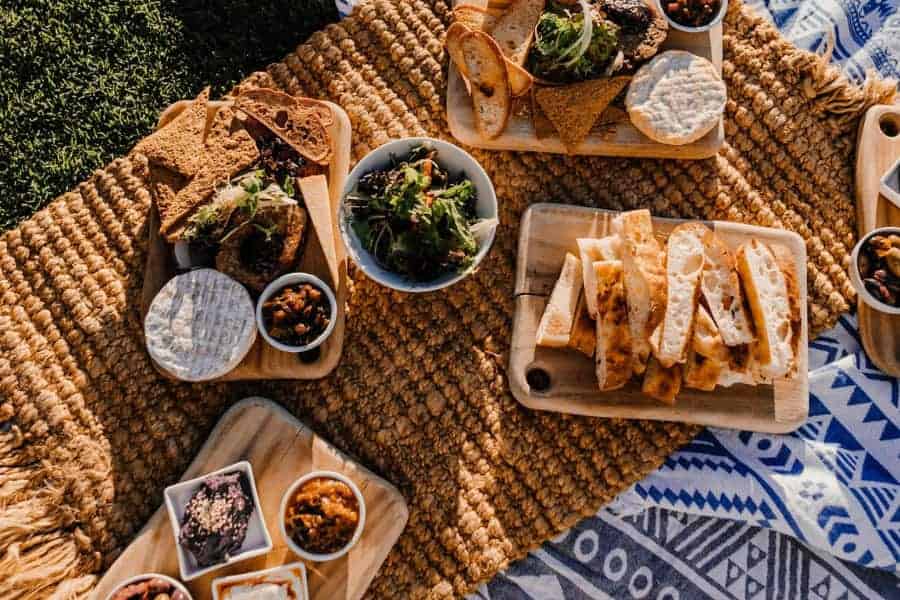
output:
MULTIPOLYGON (((454 0, 454 5, 479 4, 485 0, 454 0)), ((669 27, 669 35, 660 52, 665 50, 687 50, 710 60, 722 73, 722 25, 719 24, 705 33, 686 33, 669 27)), ((524 97, 528 104, 527 95, 524 97)), ((514 103, 515 105, 516 103, 514 103)), ((490 150, 522 150, 527 152, 567 153, 566 147, 557 135, 538 139, 530 114, 513 114, 506 129, 498 137, 487 139, 475 128, 472 99, 466 91, 459 70, 451 61, 447 86, 447 121, 450 133, 467 146, 490 150)), ((722 121, 718 127, 691 144, 672 146, 654 142, 626 120, 602 129, 594 129, 572 154, 593 154, 601 156, 634 156, 646 158, 696 159, 714 156, 725 141, 722 121)))

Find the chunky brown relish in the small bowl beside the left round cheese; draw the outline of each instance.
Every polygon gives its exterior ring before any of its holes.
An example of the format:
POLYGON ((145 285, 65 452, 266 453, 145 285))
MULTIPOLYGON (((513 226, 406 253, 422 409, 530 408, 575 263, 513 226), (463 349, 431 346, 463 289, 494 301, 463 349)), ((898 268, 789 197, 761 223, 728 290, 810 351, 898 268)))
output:
POLYGON ((307 346, 328 329, 331 302, 311 283, 288 285, 263 302, 269 335, 288 346, 307 346))

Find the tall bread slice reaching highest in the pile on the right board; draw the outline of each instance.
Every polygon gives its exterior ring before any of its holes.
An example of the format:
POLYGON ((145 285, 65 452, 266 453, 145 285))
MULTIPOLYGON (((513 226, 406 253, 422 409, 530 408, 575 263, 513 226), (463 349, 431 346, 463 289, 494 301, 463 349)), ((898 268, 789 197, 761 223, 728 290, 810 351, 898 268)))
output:
POLYGON ((625 297, 634 354, 632 366, 640 375, 650 356, 648 338, 665 312, 666 254, 653 235, 650 211, 622 213, 616 217, 613 227, 622 238, 625 297))

